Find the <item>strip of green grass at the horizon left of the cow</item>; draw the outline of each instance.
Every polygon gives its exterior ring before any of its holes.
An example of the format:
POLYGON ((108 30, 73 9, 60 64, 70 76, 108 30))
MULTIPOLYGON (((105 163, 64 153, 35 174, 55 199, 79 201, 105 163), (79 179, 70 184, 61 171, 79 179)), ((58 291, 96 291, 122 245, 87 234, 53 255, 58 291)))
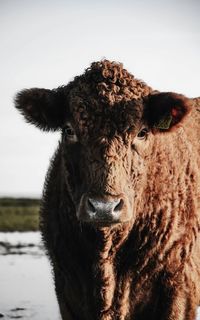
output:
POLYGON ((0 198, 0 231, 36 231, 39 228, 38 199, 0 198))

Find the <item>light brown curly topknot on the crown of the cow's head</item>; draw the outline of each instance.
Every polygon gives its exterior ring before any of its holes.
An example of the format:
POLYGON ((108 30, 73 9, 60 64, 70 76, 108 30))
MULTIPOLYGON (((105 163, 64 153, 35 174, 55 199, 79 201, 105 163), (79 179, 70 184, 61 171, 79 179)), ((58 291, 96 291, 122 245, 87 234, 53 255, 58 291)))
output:
POLYGON ((101 60, 93 62, 85 73, 74 79, 79 83, 78 92, 101 97, 106 104, 126 102, 149 95, 152 89, 141 80, 135 79, 123 64, 101 60), (80 90, 81 89, 81 90, 80 90))

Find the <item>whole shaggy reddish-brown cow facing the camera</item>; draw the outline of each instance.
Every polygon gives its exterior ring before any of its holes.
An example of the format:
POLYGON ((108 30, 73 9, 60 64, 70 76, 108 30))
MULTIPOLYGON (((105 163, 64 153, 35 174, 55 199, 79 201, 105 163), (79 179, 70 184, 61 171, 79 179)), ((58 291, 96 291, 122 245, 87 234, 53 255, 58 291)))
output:
POLYGON ((41 230, 64 320, 194 320, 200 302, 200 99, 119 63, 16 97, 60 130, 41 230))

